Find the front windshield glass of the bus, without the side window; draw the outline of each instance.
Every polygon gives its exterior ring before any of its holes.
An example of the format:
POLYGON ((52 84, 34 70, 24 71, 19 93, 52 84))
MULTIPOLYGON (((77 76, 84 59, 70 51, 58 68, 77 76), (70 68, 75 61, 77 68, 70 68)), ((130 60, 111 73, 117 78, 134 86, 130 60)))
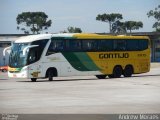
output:
POLYGON ((29 51, 23 55, 23 49, 29 46, 30 43, 13 43, 9 56, 9 66, 20 68, 27 64, 27 56, 29 51))

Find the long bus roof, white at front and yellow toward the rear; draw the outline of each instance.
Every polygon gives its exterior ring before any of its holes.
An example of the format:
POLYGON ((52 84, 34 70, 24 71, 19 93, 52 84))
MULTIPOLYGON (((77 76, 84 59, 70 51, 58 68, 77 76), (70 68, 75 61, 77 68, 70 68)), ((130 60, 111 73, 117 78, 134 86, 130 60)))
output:
POLYGON ((50 39, 51 37, 73 37, 77 39, 149 39, 147 36, 125 36, 125 35, 100 35, 100 34, 86 34, 86 33, 59 33, 59 34, 38 34, 20 37, 15 43, 27 43, 36 40, 50 39))

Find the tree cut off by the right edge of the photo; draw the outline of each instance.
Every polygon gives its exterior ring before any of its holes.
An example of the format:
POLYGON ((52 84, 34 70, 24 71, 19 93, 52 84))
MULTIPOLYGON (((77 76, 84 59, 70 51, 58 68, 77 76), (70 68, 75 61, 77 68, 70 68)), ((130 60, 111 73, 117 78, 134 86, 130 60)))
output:
POLYGON ((156 28, 156 31, 160 31, 160 5, 158 5, 155 10, 150 10, 147 13, 148 17, 154 17, 156 22, 153 24, 153 28, 156 28))

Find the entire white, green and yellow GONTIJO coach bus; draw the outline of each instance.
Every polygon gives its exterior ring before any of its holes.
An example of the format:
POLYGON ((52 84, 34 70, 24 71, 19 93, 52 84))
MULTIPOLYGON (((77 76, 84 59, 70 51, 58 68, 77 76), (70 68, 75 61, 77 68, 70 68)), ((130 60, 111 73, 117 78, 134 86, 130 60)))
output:
POLYGON ((11 46, 8 76, 38 78, 95 75, 131 77, 150 70, 150 40, 145 36, 41 34, 21 37, 11 46))

